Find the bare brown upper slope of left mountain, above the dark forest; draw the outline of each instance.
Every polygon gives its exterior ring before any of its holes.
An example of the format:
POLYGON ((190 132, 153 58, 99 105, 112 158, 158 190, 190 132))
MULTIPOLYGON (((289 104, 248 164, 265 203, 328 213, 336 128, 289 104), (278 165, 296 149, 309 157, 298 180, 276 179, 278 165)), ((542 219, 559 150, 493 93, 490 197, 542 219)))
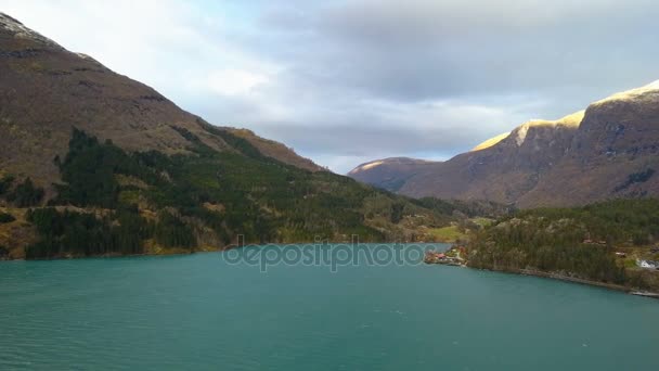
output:
MULTIPOLYGON (((118 75, 90 56, 73 53, 0 13, 0 167, 29 175, 49 187, 59 179, 53 163, 67 151, 72 127, 127 151, 185 153, 191 142, 177 128, 207 145, 231 151, 198 117, 154 89, 118 75)), ((230 129, 230 128, 227 128, 230 129)), ((269 156, 319 170, 283 145, 250 135, 269 156)))

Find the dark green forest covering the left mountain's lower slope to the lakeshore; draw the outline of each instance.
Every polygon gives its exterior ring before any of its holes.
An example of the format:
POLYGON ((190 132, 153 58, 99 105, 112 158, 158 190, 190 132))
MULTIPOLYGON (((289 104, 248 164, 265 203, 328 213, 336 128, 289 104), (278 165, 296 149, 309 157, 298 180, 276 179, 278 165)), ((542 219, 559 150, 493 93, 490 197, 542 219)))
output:
MULTIPOLYGON (((192 143, 188 154, 127 153, 112 141, 101 142, 74 129, 68 153, 54 159, 63 182, 54 184, 57 195, 48 205, 78 206, 96 214, 34 209, 28 221, 37 227, 39 240, 28 246, 28 258, 141 254, 146 241, 192 251, 202 235, 212 241, 208 230, 220 245, 234 243, 238 234, 247 243, 351 234, 364 242, 391 241, 400 238, 396 234, 400 230, 412 228, 412 219, 442 226, 456 210, 476 215, 495 209, 484 204, 413 201, 328 171, 299 169, 263 156, 228 130, 202 127, 233 150, 218 152, 177 127, 192 143), (147 220, 142 210, 157 217, 147 220), (415 218, 408 218, 412 215, 415 218)), ((29 183, 23 189, 25 194, 39 193, 29 183)))

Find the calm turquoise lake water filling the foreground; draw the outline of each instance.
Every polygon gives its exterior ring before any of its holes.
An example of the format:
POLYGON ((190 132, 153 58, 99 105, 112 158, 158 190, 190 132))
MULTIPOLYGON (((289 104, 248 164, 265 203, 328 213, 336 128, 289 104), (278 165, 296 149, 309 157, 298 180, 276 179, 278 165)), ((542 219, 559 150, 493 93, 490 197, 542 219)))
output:
POLYGON ((659 300, 456 267, 261 272, 221 257, 0 264, 0 369, 659 369, 659 300))

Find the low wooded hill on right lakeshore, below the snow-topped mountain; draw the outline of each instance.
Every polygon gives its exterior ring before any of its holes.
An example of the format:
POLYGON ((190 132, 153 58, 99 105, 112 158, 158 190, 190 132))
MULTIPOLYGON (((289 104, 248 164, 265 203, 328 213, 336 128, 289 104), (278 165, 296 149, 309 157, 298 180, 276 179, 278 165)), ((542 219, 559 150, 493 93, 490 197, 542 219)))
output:
POLYGON ((643 286, 615 247, 659 238, 659 201, 616 200, 574 208, 517 212, 476 233, 468 264, 496 270, 535 269, 643 286))

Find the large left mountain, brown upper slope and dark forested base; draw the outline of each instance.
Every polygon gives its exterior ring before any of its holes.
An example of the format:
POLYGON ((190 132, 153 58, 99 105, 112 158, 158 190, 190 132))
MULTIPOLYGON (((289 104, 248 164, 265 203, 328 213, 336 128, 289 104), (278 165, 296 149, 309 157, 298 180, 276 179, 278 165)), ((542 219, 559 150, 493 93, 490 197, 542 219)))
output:
POLYGON ((210 125, 1 13, 0 146, 0 258, 415 241, 454 219, 210 125))

